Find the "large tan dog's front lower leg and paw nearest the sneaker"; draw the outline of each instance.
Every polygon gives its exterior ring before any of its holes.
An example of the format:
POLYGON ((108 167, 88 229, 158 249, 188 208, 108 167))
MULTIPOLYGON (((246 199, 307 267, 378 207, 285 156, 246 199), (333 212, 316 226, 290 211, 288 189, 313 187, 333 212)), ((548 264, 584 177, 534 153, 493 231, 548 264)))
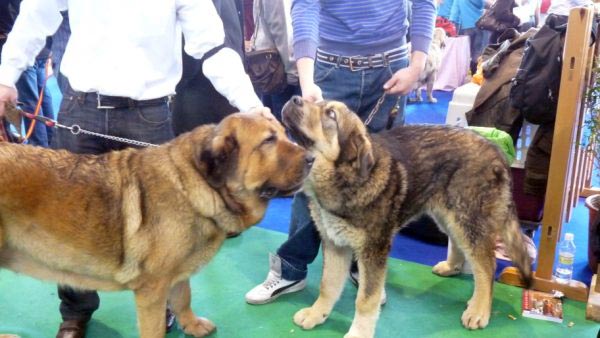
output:
POLYGON ((185 334, 204 337, 215 330, 215 324, 206 318, 196 317, 191 308, 191 290, 188 279, 175 284, 169 293, 169 304, 175 312, 185 334))

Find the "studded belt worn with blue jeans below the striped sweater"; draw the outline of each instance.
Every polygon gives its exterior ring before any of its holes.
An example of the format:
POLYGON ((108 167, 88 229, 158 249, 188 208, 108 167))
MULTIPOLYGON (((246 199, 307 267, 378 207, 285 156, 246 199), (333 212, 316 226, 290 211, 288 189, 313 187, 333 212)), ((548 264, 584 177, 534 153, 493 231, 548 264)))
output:
POLYGON ((396 48, 373 55, 342 56, 317 50, 317 60, 331 65, 350 68, 352 71, 369 68, 387 67, 390 62, 408 55, 407 47, 396 48))

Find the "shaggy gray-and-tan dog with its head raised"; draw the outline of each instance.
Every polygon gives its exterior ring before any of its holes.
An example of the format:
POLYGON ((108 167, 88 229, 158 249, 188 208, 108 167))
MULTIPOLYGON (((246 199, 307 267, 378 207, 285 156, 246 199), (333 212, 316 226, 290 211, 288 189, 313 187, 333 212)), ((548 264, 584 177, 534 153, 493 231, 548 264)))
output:
POLYGON ((344 104, 313 104, 300 97, 286 104, 283 121, 315 155, 303 189, 323 239, 319 298, 294 316, 302 328, 327 319, 354 255, 359 289, 345 337, 373 337, 392 237, 423 213, 452 242, 447 260, 433 272, 456 275, 465 260, 473 268, 474 293, 462 315, 466 328, 484 328, 490 319, 497 236, 529 284, 530 258, 515 214, 509 166, 485 138, 457 127, 424 125, 369 135, 344 104))

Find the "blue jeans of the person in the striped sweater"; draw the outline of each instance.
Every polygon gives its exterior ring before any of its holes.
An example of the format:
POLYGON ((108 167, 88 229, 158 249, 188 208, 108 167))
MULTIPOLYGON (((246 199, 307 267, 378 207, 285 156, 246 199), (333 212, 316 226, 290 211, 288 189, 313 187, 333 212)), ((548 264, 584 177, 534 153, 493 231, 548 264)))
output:
MULTIPOLYGON (((321 88, 324 99, 344 102, 365 121, 383 94, 383 84, 407 66, 408 58, 391 62, 387 67, 361 71, 316 61, 315 83, 321 88)), ((370 132, 378 132, 391 125, 404 124, 405 106, 406 96, 386 96, 367 128, 370 132)), ((307 266, 319 254, 320 245, 321 238, 308 209, 308 198, 297 193, 292 201, 288 239, 277 250, 282 277, 287 280, 306 278, 307 266)))

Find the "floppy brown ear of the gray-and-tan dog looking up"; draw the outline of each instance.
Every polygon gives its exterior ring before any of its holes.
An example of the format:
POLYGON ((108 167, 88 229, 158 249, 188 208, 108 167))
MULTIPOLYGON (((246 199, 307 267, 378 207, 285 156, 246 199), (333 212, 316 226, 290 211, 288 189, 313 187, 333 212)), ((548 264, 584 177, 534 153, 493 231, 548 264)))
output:
POLYGON ((375 165, 371 141, 357 130, 352 131, 348 138, 340 141, 342 150, 338 161, 352 162, 352 167, 357 169, 360 177, 367 178, 375 165))

